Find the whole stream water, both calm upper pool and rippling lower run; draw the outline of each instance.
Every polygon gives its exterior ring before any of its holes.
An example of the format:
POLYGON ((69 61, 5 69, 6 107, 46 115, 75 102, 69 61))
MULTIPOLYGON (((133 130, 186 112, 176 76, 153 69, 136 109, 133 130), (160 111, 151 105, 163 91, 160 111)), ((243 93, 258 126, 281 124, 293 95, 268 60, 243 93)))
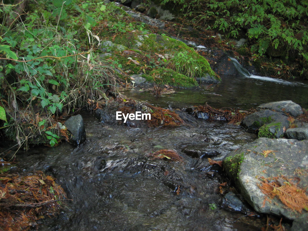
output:
MULTIPOLYGON (((277 99, 308 106, 308 88, 298 86, 302 83, 222 78, 216 86, 178 89, 163 97, 137 90, 125 94, 173 108, 208 102, 213 107, 248 109, 277 99)), ((221 208, 219 184, 226 179, 221 168, 207 159, 222 160, 228 152, 256 139, 256 134, 234 124, 179 113, 186 122, 181 126, 129 128, 99 123, 83 112, 84 144, 75 148, 62 143, 19 152, 20 171, 51 174, 73 199, 59 216, 39 221, 39 230, 260 230, 265 217, 221 208), (176 150, 183 162, 146 156, 160 149, 176 150)))

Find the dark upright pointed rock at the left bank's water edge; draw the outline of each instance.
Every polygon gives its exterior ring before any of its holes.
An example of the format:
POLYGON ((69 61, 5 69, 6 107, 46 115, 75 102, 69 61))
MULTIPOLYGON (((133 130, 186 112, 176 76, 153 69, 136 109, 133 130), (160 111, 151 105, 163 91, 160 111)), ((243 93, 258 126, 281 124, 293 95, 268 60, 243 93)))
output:
POLYGON ((81 115, 74 115, 65 121, 65 126, 68 131, 72 133, 70 142, 79 145, 86 140, 86 130, 83 124, 83 118, 81 115))

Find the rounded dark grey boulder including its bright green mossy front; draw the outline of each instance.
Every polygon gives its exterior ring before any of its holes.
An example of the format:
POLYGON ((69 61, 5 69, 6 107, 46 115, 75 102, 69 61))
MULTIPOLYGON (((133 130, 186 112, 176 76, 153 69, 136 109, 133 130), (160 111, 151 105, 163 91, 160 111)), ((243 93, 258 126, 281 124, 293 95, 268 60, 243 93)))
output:
POLYGON ((241 125, 250 132, 259 132, 259 137, 280 138, 289 128, 286 114, 271 110, 261 110, 247 115, 241 125))

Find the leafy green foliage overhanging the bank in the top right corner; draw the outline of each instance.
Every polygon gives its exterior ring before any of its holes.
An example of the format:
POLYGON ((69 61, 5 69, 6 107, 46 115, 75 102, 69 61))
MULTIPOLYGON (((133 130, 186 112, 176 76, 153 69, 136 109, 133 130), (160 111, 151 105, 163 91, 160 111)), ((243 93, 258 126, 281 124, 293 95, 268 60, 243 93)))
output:
POLYGON ((271 55, 301 59, 303 69, 308 61, 308 2, 295 0, 163 0, 181 6, 193 22, 203 21, 209 29, 216 28, 228 37, 242 36, 244 32, 252 44, 255 56, 271 55), (277 52, 276 52, 277 53, 277 52))

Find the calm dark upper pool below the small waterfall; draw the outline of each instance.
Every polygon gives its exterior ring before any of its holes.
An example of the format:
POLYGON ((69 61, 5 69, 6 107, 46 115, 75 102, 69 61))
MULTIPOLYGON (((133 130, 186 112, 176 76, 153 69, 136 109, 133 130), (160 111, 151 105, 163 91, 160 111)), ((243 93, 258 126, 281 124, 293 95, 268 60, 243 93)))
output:
POLYGON ((202 86, 201 90, 177 89, 176 94, 163 95, 159 100, 147 91, 126 91, 125 94, 161 107, 170 105, 181 108, 204 105, 207 102, 216 108, 233 107, 247 110, 261 103, 292 100, 303 108, 308 108, 308 81, 230 75, 222 75, 221 79, 221 83, 209 87, 202 86))

